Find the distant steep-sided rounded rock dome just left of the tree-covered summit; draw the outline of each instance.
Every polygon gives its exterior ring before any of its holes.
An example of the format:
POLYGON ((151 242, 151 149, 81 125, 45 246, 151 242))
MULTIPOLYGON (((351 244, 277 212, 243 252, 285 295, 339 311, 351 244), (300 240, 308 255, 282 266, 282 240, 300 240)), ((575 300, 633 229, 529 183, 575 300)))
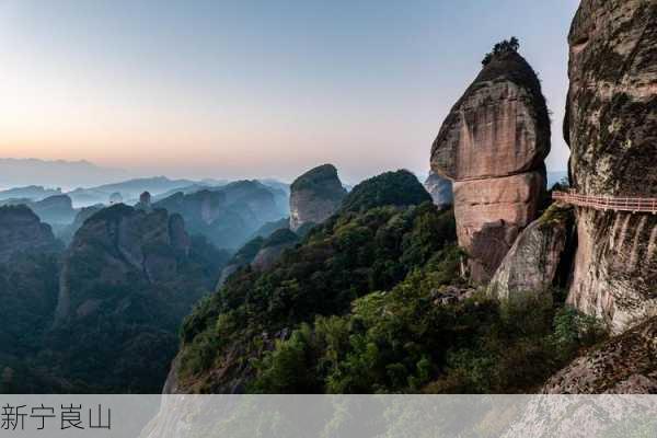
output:
POLYGON ((341 207, 347 191, 337 169, 323 164, 299 176, 290 186, 290 230, 304 223, 322 223, 341 207))

